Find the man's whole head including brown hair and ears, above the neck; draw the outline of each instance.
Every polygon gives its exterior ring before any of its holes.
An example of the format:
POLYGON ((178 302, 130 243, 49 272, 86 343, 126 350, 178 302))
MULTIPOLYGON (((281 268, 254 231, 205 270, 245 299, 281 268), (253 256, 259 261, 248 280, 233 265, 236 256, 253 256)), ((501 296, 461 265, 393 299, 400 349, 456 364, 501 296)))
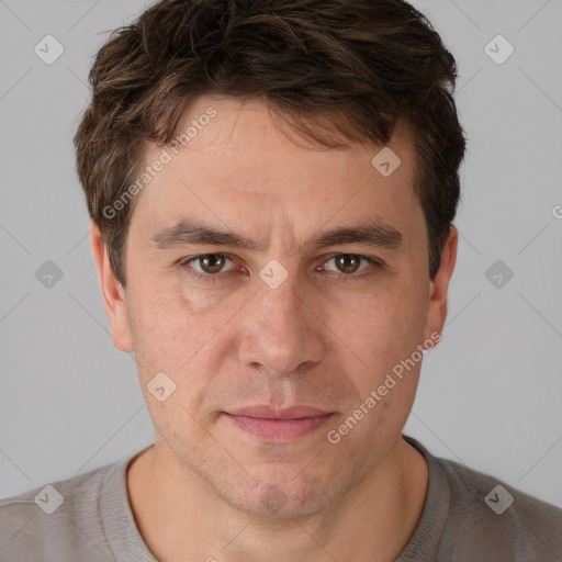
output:
POLYGON ((317 513, 400 440, 454 267, 454 78, 402 0, 162 1, 98 54, 75 144, 113 341, 231 505, 317 513), (256 404, 331 416, 272 443, 228 415, 256 404))

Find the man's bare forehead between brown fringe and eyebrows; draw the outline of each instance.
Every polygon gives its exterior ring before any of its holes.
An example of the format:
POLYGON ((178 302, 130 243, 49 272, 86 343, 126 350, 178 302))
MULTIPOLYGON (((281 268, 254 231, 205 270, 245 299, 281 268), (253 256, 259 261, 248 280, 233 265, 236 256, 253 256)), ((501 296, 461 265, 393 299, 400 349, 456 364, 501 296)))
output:
POLYGON ((299 136, 260 102, 205 95, 184 110, 170 145, 148 146, 145 166, 162 159, 135 204, 134 215, 153 231, 189 213, 267 238, 289 224, 304 232, 380 217, 407 226, 420 211, 412 142, 400 124, 386 147, 328 149, 299 136), (386 162, 391 171, 397 166, 391 175, 378 168, 386 162))

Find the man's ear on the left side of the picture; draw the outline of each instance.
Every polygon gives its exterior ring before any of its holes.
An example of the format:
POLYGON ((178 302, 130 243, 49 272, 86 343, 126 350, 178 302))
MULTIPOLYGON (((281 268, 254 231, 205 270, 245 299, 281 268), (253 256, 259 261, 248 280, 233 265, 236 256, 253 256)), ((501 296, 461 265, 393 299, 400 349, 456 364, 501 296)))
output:
POLYGON ((100 279, 103 305, 111 325, 113 345, 121 351, 133 351, 126 294, 113 272, 100 229, 93 221, 90 221, 90 244, 100 279))

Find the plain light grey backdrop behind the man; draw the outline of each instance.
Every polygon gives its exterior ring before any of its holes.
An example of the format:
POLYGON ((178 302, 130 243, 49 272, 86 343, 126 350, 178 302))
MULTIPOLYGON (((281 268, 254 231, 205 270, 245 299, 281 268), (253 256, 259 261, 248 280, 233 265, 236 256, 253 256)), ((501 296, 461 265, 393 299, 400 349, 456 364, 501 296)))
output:
MULTIPOLYGON (((415 3, 457 57, 469 150, 449 317, 406 434, 562 506, 562 0, 415 3), (515 47, 501 65, 484 49, 497 34, 515 47)), ((91 57, 144 8, 0 0, 0 497, 154 439, 109 335, 71 145, 91 57), (34 53, 47 34, 65 49, 52 65, 34 53), (47 260, 52 288, 35 277, 47 260)))

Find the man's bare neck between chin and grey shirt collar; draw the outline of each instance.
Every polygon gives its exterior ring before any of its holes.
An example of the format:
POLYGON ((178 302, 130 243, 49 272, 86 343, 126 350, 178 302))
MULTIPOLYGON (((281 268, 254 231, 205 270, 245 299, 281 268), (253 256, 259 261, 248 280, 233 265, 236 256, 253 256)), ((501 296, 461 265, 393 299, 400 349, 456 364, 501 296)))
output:
POLYGON ((127 470, 138 529, 160 562, 201 560, 393 561, 422 515, 428 484, 423 456, 398 440, 376 468, 322 513, 260 517, 218 497, 182 468, 162 441, 127 470))

